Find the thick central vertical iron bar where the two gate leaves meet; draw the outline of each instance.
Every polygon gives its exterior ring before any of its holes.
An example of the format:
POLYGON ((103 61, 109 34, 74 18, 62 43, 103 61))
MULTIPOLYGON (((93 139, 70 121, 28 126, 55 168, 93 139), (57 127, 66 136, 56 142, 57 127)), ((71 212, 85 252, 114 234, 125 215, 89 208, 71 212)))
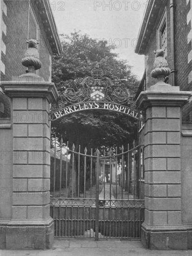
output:
POLYGON ((95 240, 99 240, 99 149, 96 150, 97 168, 96 168, 96 216, 95 216, 95 240))

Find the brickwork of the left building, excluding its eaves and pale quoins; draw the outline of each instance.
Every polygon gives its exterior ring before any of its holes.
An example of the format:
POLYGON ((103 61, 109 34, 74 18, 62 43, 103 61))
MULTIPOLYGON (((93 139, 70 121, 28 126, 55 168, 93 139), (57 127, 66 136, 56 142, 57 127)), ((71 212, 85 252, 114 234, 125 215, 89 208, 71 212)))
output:
MULTIPOLYGON (((1 60, 5 65, 5 73, 1 72, 1 80, 3 81, 12 79, 12 76, 19 76, 25 73, 26 70, 26 67, 23 67, 21 64, 21 59, 24 57, 27 48, 27 4, 28 1, 4 1, 4 5, 7 7, 7 15, 5 15, 4 12, 2 13, 2 20, 6 26, 6 34, 2 31, 2 41, 4 44, 1 46, 1 48, 4 47, 5 49, 4 52, 1 52, 1 60), (13 5, 13 2, 17 2, 17 4, 13 5)), ((33 13, 35 14, 34 11, 33 13)), ((36 21, 37 24, 34 22, 33 15, 30 14, 29 37, 35 37, 36 27, 39 25, 39 20, 36 21)), ((50 52, 47 44, 44 43, 42 26, 40 26, 39 34, 39 52, 40 61, 42 62, 42 68, 39 74, 44 77, 46 81, 50 81, 50 52)))

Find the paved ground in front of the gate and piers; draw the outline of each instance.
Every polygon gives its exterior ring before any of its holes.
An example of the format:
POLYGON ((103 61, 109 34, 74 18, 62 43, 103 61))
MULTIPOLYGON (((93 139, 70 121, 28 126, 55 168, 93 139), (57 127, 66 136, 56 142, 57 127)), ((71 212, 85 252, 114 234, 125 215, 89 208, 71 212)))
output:
POLYGON ((192 250, 149 250, 130 241, 54 240, 49 250, 0 250, 0 256, 192 256, 192 250))

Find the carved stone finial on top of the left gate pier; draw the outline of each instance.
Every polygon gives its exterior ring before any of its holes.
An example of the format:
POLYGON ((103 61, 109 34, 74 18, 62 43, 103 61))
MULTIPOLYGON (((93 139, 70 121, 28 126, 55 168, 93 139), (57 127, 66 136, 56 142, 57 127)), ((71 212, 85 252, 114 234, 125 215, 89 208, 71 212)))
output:
POLYGON ((22 59, 21 63, 23 66, 28 68, 29 73, 34 73, 35 70, 40 69, 41 62, 40 56, 37 50, 38 41, 34 39, 29 39, 27 41, 28 49, 25 53, 25 58, 22 59))

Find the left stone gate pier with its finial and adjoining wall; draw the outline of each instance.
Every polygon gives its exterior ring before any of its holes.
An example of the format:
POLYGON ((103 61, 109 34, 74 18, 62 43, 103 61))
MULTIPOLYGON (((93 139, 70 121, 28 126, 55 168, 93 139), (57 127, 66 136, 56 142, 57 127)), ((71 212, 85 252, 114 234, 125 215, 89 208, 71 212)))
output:
POLYGON ((22 64, 29 73, 1 84, 11 107, 0 123, 1 249, 49 249, 54 237, 48 114, 58 92, 35 73, 41 63, 34 40, 27 51, 22 64))

